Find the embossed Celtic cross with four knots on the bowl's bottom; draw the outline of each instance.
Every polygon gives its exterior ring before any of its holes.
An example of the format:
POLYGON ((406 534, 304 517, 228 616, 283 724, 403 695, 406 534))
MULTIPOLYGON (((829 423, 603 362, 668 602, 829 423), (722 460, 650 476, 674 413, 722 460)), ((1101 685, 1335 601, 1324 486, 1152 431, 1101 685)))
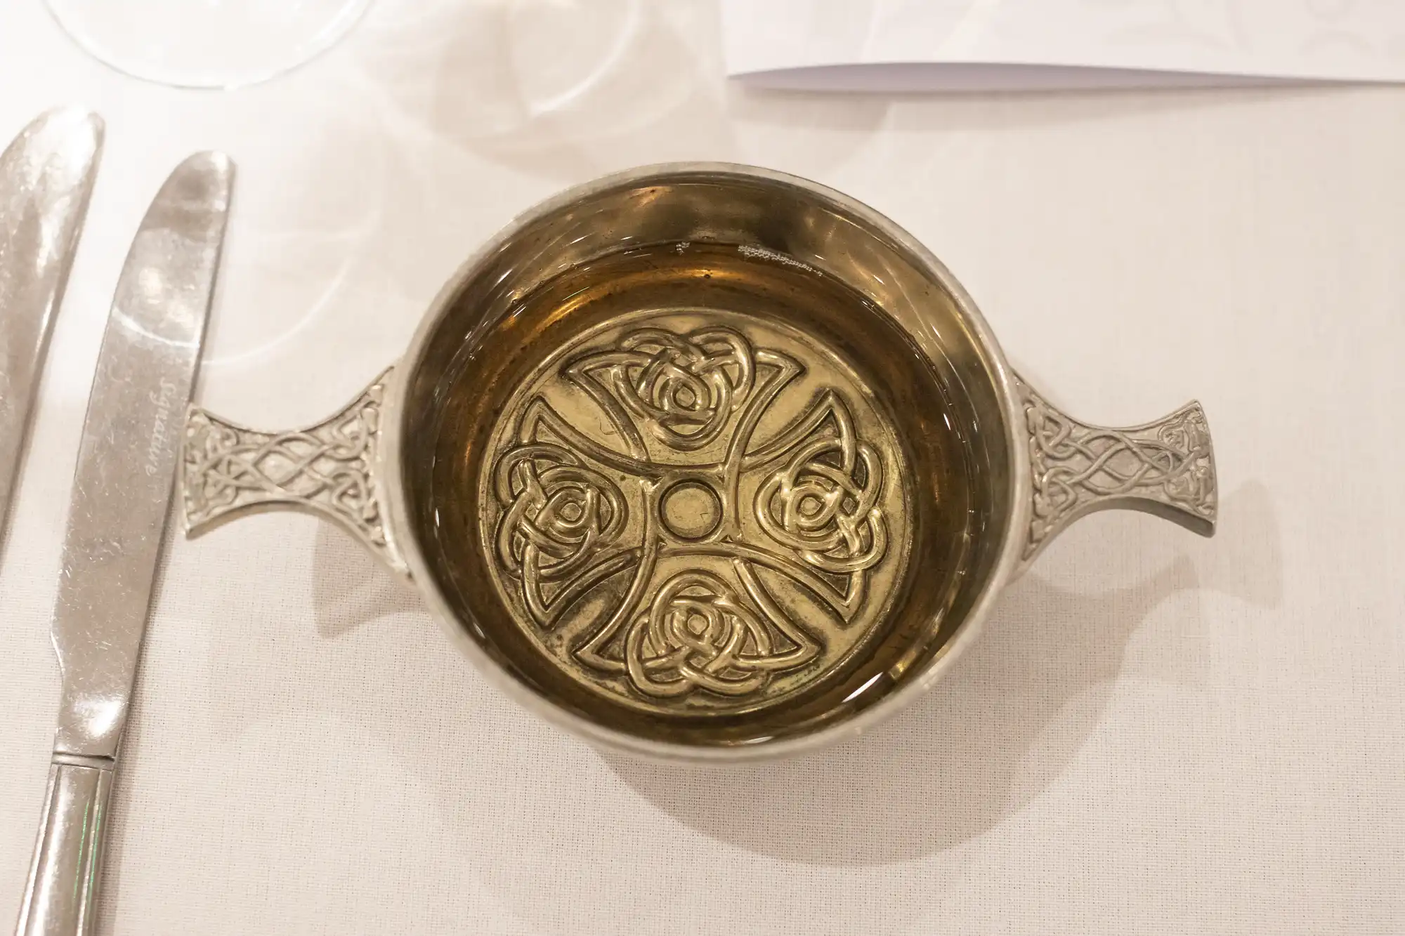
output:
POLYGON ((563 665, 715 710, 858 639, 892 472, 839 388, 777 409, 805 375, 739 329, 646 323, 518 391, 481 535, 531 627, 576 635, 563 665))

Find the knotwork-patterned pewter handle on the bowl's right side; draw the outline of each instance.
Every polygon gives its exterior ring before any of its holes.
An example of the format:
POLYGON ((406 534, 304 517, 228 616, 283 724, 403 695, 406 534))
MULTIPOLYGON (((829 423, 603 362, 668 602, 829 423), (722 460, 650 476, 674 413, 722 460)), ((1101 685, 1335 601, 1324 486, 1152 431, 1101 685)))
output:
POLYGON ((1208 537, 1218 498, 1210 427, 1200 403, 1142 426, 1079 422, 1016 375, 1033 475, 1020 571, 1068 524, 1097 510, 1141 510, 1208 537))

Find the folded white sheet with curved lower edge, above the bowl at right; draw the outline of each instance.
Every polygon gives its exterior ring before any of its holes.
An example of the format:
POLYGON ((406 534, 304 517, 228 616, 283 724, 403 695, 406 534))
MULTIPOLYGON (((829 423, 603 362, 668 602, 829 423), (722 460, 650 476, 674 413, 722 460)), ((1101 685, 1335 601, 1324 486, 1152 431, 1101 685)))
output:
POLYGON ((728 73, 812 90, 1405 82, 1405 0, 722 0, 728 73))

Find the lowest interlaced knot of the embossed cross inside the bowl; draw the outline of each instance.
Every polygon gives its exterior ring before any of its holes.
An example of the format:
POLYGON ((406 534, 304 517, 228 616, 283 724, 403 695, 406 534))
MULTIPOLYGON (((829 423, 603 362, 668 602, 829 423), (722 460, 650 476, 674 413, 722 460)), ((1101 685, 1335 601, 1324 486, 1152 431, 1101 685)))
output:
POLYGON ((808 642, 778 648, 760 616, 704 571, 665 582, 625 637, 629 679, 655 697, 694 689, 746 696, 766 684, 771 670, 804 663, 815 652, 808 642))

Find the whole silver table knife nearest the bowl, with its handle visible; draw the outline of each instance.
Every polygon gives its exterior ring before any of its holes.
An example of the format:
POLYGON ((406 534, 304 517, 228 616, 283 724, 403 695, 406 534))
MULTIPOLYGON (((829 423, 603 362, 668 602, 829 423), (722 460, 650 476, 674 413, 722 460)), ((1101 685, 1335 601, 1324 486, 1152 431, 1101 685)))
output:
POLYGON ((233 166, 181 163, 136 232, 89 395, 53 648, 63 675, 20 936, 90 933, 118 746, 200 364, 233 166))

